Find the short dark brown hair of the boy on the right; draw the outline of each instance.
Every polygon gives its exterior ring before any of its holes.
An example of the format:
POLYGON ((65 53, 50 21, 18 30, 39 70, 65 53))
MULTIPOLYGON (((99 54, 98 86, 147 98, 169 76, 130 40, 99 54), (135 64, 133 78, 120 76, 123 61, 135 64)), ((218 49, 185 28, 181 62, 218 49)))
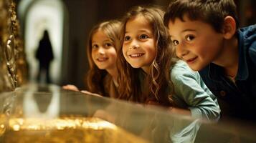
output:
POLYGON ((220 32, 226 16, 232 16, 237 25, 237 6, 233 0, 171 0, 163 22, 168 27, 169 21, 176 18, 184 21, 187 14, 190 20, 202 20, 213 26, 215 31, 220 32))

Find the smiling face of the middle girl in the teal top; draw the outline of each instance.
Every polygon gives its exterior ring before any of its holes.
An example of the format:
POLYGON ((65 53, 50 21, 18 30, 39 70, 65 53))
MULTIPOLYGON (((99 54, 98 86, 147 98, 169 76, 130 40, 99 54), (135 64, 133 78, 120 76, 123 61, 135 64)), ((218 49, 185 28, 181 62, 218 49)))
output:
POLYGON ((123 41, 123 56, 133 68, 142 68, 149 73, 149 67, 156 56, 156 41, 153 29, 143 16, 127 21, 123 41))

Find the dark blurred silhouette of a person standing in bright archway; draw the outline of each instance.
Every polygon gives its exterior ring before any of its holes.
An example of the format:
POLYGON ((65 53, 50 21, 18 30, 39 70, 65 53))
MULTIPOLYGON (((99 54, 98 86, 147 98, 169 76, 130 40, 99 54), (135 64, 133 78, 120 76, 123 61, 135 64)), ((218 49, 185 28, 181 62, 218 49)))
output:
POLYGON ((49 34, 47 30, 44 30, 44 36, 39 41, 39 47, 37 49, 37 59, 39 61, 39 72, 37 75, 37 81, 40 82, 43 73, 45 73, 46 82, 51 83, 49 77, 49 64, 54 59, 52 52, 52 44, 49 41, 49 34))

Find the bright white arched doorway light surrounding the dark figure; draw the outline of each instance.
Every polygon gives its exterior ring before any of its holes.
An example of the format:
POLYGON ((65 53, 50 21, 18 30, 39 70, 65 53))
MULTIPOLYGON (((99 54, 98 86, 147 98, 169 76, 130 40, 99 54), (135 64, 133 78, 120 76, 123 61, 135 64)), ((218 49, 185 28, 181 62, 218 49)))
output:
POLYGON ((29 62, 30 80, 34 82, 37 77, 38 61, 35 53, 44 29, 49 31, 52 43, 54 59, 50 65, 50 77, 52 82, 60 82, 60 70, 62 64, 62 37, 63 37, 63 7, 62 1, 38 0, 27 11, 25 21, 25 52, 29 62))

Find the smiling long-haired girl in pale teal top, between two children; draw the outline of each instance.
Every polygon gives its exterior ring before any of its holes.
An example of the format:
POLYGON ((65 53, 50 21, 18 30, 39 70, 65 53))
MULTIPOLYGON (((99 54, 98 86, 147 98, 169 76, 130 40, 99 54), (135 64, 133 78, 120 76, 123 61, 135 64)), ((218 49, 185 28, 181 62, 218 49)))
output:
POLYGON ((123 18, 120 40, 123 44, 118 50, 120 99, 161 104, 170 107, 171 112, 196 118, 218 119, 216 97, 197 72, 183 61, 176 61, 161 9, 141 6, 131 9, 123 18))

